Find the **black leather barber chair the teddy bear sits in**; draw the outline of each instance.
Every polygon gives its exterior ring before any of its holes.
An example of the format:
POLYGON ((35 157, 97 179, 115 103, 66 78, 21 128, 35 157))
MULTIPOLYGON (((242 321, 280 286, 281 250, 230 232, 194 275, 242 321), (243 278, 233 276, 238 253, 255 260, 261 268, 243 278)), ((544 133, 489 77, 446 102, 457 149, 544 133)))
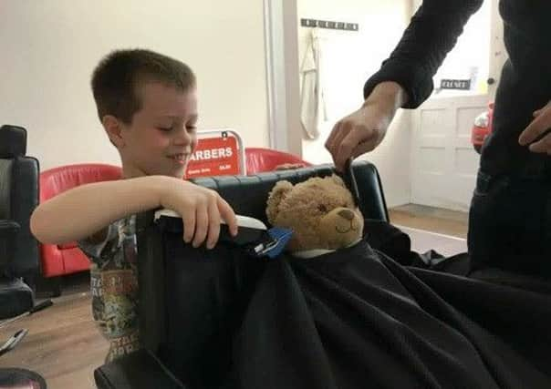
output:
MULTIPOLYGON (((362 200, 360 208, 364 216, 369 219, 388 221, 389 217, 377 169, 365 161, 355 162, 353 169, 358 181, 359 194, 362 200)), ((310 177, 322 177, 331 173, 333 173, 332 166, 326 165, 261 173, 250 177, 231 176, 195 179, 194 181, 217 190, 232 205, 237 214, 251 216, 266 222, 265 204, 268 193, 276 184, 276 181, 287 179, 296 183, 310 177)), ((169 319, 169 304, 166 302, 168 299, 167 293, 171 293, 171 274, 166 263, 162 261, 164 258, 163 240, 165 240, 166 234, 153 222, 153 213, 153 211, 144 212, 137 219, 140 269, 140 333, 142 334, 144 348, 96 369, 94 372, 96 384, 101 389, 185 387, 164 363, 163 353, 161 352, 163 345, 171 342, 171 339, 174 338, 185 339, 183 341, 186 342, 185 347, 189 345, 190 350, 192 350, 194 346, 202 342, 197 338, 209 333, 209 328, 216 328, 217 330, 219 323, 223 322, 215 317, 218 313, 213 313, 213 316, 210 308, 205 309, 203 307, 200 309, 203 309, 205 316, 211 317, 212 320, 204 322, 202 320, 193 328, 192 323, 188 324, 184 321, 184 326, 190 326, 190 333, 186 330, 187 327, 182 328, 180 325, 178 329, 173 329, 169 319)), ((225 261, 221 262, 224 263, 225 261)), ((207 263, 207 267, 210 266, 208 261, 203 261, 203 263, 207 263)), ((224 266, 224 264, 221 266, 224 266)), ((212 283, 209 284, 211 280, 208 279, 208 277, 212 277, 212 268, 207 269, 207 271, 210 271, 207 276, 201 271, 196 271, 196 269, 193 271, 189 279, 189 283, 193 285, 182 285, 178 292, 172 291, 172 295, 183 295, 185 298, 186 296, 182 292, 190 291, 190 288, 195 288, 192 294, 194 296, 193 300, 201 300, 196 296, 208 294, 209 287, 212 286, 212 283), (204 293, 198 290, 203 290, 204 293)), ((219 282, 219 286, 232 289, 232 282, 234 280, 224 280, 219 282)), ((243 281, 241 282, 243 283, 243 281)), ((194 301, 190 303, 196 304, 194 301)), ((212 308, 212 311, 220 311, 220 306, 212 308)), ((220 341, 224 343, 223 339, 220 341)), ((214 342, 213 344, 216 344, 214 347, 217 347, 219 343, 214 342)))

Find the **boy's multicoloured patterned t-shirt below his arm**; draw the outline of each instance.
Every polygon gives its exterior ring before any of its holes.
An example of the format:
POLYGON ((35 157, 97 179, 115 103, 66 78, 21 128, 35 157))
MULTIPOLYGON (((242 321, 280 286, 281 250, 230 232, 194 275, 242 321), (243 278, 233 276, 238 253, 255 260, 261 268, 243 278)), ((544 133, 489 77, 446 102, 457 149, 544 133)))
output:
POLYGON ((109 340, 109 362, 140 347, 136 217, 110 224, 103 241, 83 240, 78 246, 92 261, 92 314, 109 340))

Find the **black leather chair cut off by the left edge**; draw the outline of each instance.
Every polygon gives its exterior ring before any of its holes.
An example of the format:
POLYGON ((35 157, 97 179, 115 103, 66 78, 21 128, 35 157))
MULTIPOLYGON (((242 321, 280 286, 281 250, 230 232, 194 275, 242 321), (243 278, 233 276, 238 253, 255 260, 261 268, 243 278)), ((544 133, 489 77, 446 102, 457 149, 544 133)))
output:
POLYGON ((26 129, 0 128, 0 320, 34 305, 38 242, 29 229, 38 204, 38 160, 26 157, 26 129))

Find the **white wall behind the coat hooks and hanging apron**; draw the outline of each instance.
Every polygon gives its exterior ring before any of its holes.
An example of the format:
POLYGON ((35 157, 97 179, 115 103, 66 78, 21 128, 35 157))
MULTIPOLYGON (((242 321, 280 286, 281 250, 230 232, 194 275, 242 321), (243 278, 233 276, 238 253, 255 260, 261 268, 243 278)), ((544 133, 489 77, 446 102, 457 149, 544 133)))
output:
MULTIPOLYGON (((338 119, 361 106, 363 85, 400 40, 410 20, 411 2, 297 0, 297 8, 299 25, 300 18, 359 23, 358 32, 319 29, 324 36, 321 66, 328 120, 321 124, 319 138, 303 140, 303 158, 331 162, 324 142, 338 119)), ((307 48, 309 30, 298 26, 299 61, 307 48)), ((410 112, 400 110, 379 148, 361 157, 379 169, 389 206, 410 202, 410 128, 410 112)))

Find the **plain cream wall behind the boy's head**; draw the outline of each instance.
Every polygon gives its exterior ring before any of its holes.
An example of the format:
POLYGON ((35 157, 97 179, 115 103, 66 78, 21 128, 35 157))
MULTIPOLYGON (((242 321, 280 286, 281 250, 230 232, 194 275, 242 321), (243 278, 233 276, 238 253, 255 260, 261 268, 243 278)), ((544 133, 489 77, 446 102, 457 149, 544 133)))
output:
POLYGON ((120 163, 89 78, 101 56, 126 47, 194 69, 202 128, 235 128, 246 145, 268 145, 262 1, 2 0, 0 124, 27 128, 41 169, 120 163))

